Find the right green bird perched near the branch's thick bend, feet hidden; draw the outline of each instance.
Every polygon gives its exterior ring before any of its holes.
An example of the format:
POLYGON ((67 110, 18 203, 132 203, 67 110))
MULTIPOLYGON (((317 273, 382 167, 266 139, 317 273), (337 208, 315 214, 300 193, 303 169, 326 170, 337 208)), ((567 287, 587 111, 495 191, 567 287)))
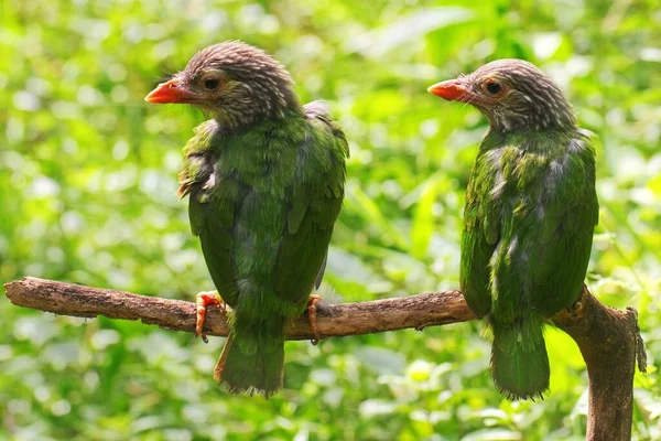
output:
POLYGON ((496 388, 509 399, 543 398, 544 320, 578 299, 599 217, 589 132, 559 87, 521 60, 429 92, 489 120, 466 191, 460 288, 494 333, 496 388))

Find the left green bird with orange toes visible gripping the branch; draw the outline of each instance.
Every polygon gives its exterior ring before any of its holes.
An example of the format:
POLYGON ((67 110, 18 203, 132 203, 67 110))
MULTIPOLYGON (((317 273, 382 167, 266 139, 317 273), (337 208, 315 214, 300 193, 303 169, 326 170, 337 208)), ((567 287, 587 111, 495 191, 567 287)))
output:
POLYGON ((324 275, 346 138, 325 105, 301 105, 281 64, 240 42, 202 50, 145 100, 191 104, 212 117, 184 147, 180 173, 217 289, 197 297, 196 332, 206 341, 208 304, 231 306, 214 378, 232 394, 268 398, 282 387, 285 330, 324 275))

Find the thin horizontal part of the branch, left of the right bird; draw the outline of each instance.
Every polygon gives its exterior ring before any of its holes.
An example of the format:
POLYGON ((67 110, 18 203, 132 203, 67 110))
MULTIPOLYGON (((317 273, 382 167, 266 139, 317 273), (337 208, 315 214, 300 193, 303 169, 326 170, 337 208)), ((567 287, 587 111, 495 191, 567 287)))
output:
MULTIPOLYGON (((141 320, 175 331, 195 331, 195 303, 90 288, 54 280, 25 277, 4 286, 7 297, 19 306, 63 315, 141 320)), ((322 337, 370 334, 405 327, 422 330, 447 323, 475 320, 459 291, 418 294, 373 302, 317 304, 317 330, 322 337)), ((204 331, 227 336, 227 323, 219 308, 209 308, 204 331)), ((296 320, 290 340, 313 340, 307 316, 296 320)))

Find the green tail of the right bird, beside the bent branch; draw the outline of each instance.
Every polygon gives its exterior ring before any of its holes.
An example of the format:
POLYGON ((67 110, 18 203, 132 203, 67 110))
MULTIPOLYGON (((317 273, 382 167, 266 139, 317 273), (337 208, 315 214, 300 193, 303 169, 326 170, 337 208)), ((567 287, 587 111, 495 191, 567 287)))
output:
POLYGON ((496 388, 508 399, 543 399, 549 389, 549 356, 541 320, 517 324, 491 323, 491 374, 496 388))

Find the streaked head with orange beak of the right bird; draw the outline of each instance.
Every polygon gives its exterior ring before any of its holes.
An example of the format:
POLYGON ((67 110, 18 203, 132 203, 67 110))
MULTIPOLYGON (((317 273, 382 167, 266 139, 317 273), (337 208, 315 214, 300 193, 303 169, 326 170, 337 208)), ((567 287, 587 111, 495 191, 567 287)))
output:
POLYGON ((576 125, 560 88, 542 71, 522 60, 497 60, 427 90, 443 99, 476 107, 494 130, 572 130, 576 125))

